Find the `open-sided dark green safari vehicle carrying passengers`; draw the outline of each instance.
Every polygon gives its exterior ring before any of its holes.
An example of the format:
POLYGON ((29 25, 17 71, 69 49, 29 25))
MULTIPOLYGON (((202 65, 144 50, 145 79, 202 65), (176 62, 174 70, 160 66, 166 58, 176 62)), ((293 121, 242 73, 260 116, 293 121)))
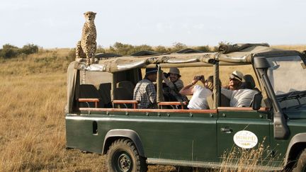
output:
POLYGON ((257 165, 246 161, 244 168, 305 171, 305 64, 300 52, 265 44, 225 45, 211 53, 113 57, 89 67, 72 62, 67 72, 67 147, 107 154, 109 171, 147 171, 150 164, 220 168, 225 151, 263 144, 257 165), (229 107, 222 98, 220 67, 233 65, 254 70, 260 92, 250 107, 229 107), (133 88, 143 77, 141 69, 156 66, 159 108, 138 109, 133 88), (210 109, 165 108, 186 104, 163 101, 162 69, 169 67, 213 69, 210 109))

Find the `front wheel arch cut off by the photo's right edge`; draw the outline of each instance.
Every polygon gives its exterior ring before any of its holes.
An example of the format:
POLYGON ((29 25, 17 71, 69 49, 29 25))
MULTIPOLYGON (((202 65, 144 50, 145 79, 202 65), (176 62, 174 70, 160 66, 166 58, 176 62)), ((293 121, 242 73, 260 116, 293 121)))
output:
POLYGON ((290 163, 297 159, 298 153, 306 148, 306 133, 295 134, 295 136, 290 140, 288 145, 285 164, 290 166, 290 163))

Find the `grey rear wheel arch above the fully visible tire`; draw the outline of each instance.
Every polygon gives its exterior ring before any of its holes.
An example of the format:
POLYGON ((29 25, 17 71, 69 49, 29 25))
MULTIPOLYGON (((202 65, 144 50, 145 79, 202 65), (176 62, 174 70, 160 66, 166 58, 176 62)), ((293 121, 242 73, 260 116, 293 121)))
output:
POLYGON ((106 137, 104 138, 102 154, 106 154, 107 151, 108 151, 108 148, 111 146, 111 144, 116 139, 120 139, 120 138, 131 139, 132 142, 134 142, 135 147, 136 147, 138 153, 140 154, 140 156, 145 157, 145 151, 142 147, 142 142, 140 140, 140 136, 134 130, 127 130, 127 129, 109 130, 106 133, 106 137))

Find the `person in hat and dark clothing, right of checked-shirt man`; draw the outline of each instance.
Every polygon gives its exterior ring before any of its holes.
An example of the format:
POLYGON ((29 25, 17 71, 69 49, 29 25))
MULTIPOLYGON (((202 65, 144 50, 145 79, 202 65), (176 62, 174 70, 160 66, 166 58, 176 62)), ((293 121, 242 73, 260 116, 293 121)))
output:
POLYGON ((167 101, 188 101, 186 96, 182 96, 179 93, 181 88, 183 88, 183 81, 180 78, 180 71, 176 67, 171 67, 168 74, 164 73, 164 75, 162 75, 162 79, 166 84, 166 88, 164 88, 163 91, 167 101))

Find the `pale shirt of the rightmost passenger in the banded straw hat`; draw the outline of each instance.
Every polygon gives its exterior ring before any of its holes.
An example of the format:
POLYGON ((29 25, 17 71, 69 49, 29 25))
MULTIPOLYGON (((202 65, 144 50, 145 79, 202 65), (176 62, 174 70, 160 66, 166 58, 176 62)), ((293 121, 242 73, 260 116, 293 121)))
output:
POLYGON ((228 90, 222 88, 221 93, 230 99, 229 105, 231 107, 250 107, 254 95, 258 92, 250 89, 228 90))

